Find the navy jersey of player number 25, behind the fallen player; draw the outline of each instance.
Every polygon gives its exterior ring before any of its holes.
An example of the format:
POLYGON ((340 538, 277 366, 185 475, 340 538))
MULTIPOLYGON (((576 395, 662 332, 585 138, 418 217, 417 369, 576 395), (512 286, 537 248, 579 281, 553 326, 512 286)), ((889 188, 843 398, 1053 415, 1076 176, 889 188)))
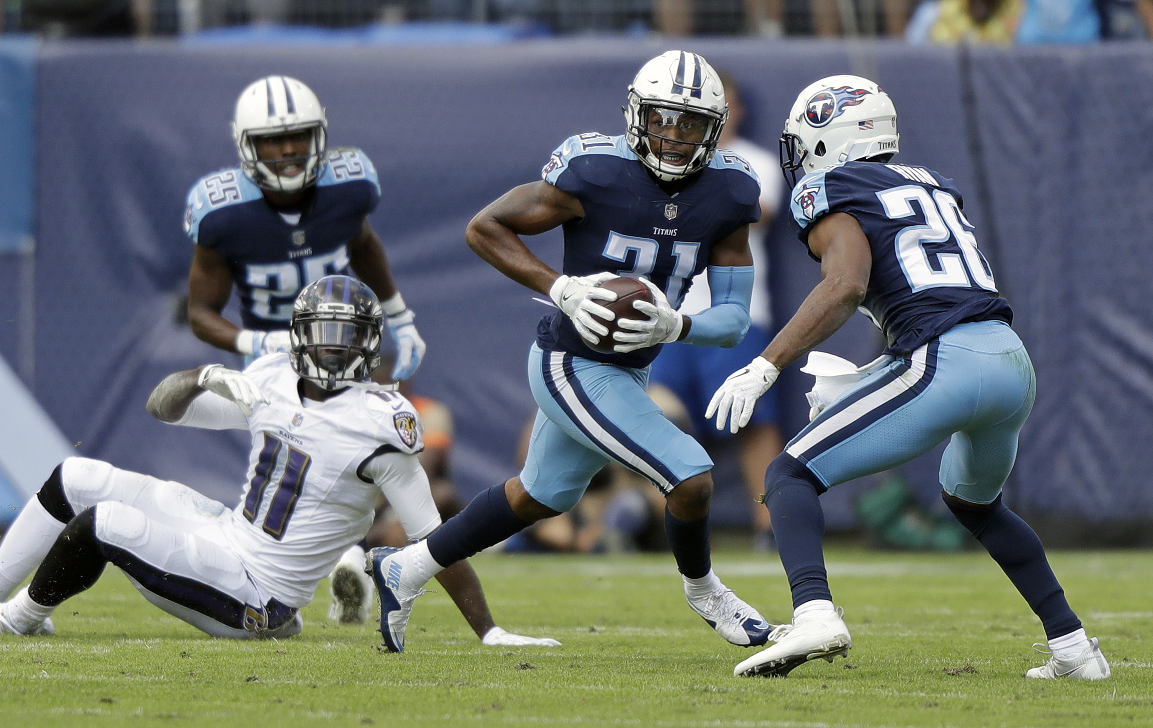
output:
POLYGON ((246 328, 288 328, 301 289, 348 273, 348 243, 379 202, 380 183, 368 156, 334 149, 302 214, 274 210, 261 188, 233 167, 193 185, 184 232, 232 265, 246 328))

